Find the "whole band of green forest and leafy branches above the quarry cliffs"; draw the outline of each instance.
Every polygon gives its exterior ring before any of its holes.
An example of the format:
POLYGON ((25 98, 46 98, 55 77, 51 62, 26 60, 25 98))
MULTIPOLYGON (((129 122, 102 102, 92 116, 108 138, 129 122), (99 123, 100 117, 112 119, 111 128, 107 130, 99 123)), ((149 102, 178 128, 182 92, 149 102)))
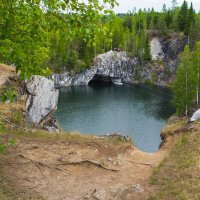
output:
POLYGON ((149 34, 183 32, 190 46, 200 39, 200 14, 192 3, 161 12, 152 9, 114 14, 115 0, 1 0, 0 62, 13 64, 21 78, 90 67, 99 53, 121 48, 151 61, 149 34), (107 5, 107 6, 105 6, 107 5), (108 6, 109 5, 109 6, 108 6), (108 9, 106 9, 108 7, 108 9))

